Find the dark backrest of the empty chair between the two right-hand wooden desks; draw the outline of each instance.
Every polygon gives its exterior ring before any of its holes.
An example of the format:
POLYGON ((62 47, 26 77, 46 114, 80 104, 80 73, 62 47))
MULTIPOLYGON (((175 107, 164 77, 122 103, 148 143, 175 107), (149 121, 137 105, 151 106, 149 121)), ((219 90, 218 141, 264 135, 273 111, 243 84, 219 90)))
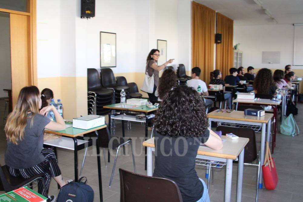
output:
POLYGON ((238 137, 249 138, 249 142, 244 148, 244 163, 251 163, 257 159, 256 136, 255 131, 252 128, 218 126, 216 131, 222 131, 222 135, 233 133, 238 137))

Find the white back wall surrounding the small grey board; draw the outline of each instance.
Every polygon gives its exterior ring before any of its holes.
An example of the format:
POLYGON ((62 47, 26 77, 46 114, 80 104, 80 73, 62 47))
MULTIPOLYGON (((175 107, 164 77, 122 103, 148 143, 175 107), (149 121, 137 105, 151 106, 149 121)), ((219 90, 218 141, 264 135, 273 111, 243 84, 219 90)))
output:
MULTIPOLYGON (((240 43, 243 67, 284 69, 293 64, 294 26, 258 25, 235 26, 234 44, 240 43), (262 64, 262 51, 281 51, 280 64, 262 64)), ((303 66, 293 66, 301 69, 303 66)))

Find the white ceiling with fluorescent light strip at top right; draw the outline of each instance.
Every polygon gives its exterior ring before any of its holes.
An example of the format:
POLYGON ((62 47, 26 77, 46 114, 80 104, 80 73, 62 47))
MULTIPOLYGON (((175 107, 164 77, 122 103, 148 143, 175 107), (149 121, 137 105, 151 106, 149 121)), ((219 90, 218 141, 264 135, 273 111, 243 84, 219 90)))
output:
MULTIPOLYGON (((235 26, 277 24, 253 0, 195 0, 234 20, 235 26)), ((260 0, 278 24, 303 23, 303 0, 260 0)))

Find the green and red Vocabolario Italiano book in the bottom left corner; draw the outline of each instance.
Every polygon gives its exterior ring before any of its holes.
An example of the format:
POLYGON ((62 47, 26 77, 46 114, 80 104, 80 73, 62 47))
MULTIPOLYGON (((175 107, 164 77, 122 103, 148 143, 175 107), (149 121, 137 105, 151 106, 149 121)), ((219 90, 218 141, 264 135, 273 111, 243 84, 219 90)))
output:
POLYGON ((5 194, 0 195, 0 201, 2 202, 46 202, 47 198, 38 194, 34 190, 28 187, 22 187, 5 194))

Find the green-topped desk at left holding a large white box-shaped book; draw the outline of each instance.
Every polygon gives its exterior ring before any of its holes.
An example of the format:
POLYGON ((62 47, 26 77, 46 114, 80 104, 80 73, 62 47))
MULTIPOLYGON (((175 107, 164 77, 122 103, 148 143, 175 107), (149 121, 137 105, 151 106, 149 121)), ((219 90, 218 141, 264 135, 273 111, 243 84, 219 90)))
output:
MULTIPOLYGON (((83 141, 83 140, 78 140, 77 137, 79 137, 81 135, 84 135, 84 134, 87 134, 87 133, 90 133, 90 132, 94 132, 94 131, 95 131, 96 135, 98 136, 97 130, 105 128, 105 127, 106 127, 106 125, 102 125, 102 126, 98 126, 98 127, 94 127, 94 128, 88 129, 88 130, 74 128, 74 127, 68 127, 68 128, 66 128, 65 130, 62 130, 62 131, 50 131, 50 130, 44 129, 45 133, 52 133, 52 134, 62 135, 64 137, 72 138, 72 140, 74 141, 75 182, 78 181, 78 150, 81 150, 81 149, 83 149, 85 147, 92 146, 92 140, 90 140, 90 141, 83 141)), ((64 147, 60 146, 60 142, 66 141, 66 138, 63 139, 62 141, 60 139, 44 141, 45 145, 55 146, 54 148, 55 148, 55 154, 56 154, 57 158, 58 158, 58 155, 57 155, 56 147, 64 148, 64 147)), ((100 161, 100 147, 99 147, 98 141, 96 141, 96 150, 97 150, 97 162, 98 162, 98 180, 99 180, 100 201, 103 201, 102 178, 101 178, 101 161, 100 161)))

